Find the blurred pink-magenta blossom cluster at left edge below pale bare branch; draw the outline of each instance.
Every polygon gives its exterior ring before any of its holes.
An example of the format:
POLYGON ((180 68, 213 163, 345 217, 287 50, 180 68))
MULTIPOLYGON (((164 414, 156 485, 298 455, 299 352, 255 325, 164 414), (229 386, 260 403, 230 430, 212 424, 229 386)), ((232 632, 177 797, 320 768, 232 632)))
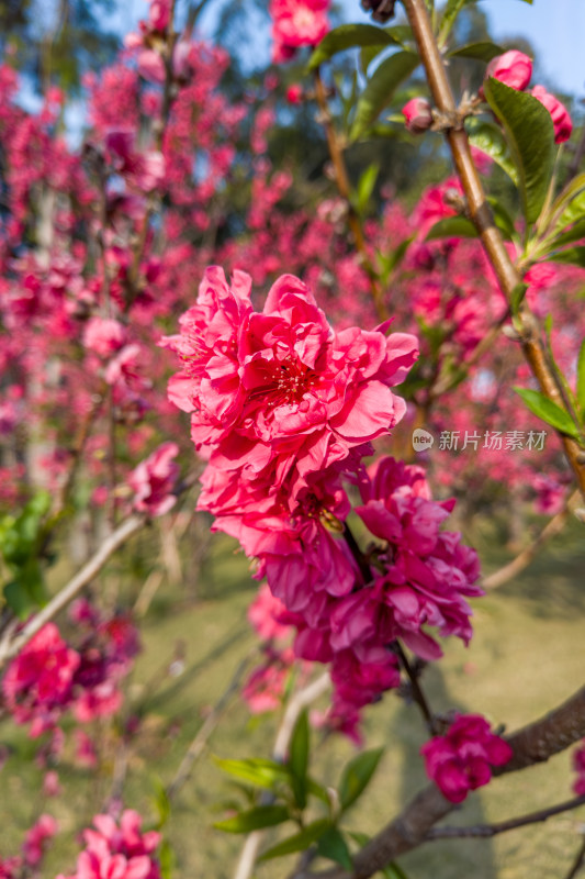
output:
POLYGON ((86 631, 77 649, 47 623, 12 660, 2 680, 8 710, 31 737, 54 730, 71 710, 80 723, 115 713, 122 704, 120 681, 138 650, 136 630, 123 616, 102 620, 85 600, 72 605, 86 631))

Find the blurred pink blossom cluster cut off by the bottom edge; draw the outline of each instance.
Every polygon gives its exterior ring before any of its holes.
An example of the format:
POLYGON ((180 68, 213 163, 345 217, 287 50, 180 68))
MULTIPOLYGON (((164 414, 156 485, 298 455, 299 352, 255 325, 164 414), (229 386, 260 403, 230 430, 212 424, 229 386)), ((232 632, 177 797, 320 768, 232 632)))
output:
POLYGON ((116 823, 111 815, 95 815, 95 830, 83 831, 85 849, 72 876, 57 879, 160 879, 155 850, 160 843, 156 831, 142 832, 142 817, 126 809, 116 823))

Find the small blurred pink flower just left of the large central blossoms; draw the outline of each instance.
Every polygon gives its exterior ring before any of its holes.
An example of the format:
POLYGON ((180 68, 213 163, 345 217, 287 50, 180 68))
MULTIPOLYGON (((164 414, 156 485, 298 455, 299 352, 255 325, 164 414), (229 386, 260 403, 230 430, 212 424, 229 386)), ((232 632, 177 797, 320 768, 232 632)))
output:
POLYGON ((132 471, 128 486, 136 492, 136 510, 164 515, 175 505, 177 498, 171 492, 179 476, 179 465, 173 461, 178 454, 177 443, 162 443, 132 471))

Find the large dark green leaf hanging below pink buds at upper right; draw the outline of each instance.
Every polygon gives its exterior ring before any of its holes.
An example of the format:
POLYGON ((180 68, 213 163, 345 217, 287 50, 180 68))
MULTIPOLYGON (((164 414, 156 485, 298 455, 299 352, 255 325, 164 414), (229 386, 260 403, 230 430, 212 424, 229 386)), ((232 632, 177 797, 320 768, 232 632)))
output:
POLYGON ((551 114, 540 101, 490 77, 484 82, 490 107, 504 125, 518 169, 520 200, 527 223, 540 216, 556 155, 551 114))

